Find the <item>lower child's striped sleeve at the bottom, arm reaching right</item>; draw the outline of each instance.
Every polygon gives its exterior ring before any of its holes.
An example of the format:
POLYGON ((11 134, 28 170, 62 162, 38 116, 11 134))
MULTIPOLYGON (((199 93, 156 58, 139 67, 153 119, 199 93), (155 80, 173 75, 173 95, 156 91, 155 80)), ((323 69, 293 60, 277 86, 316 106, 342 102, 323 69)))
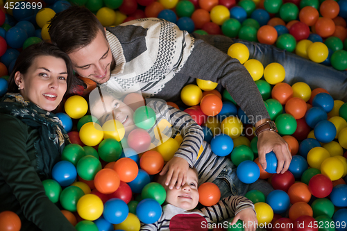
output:
POLYGON ((255 212, 254 205, 248 198, 244 196, 228 196, 223 200, 219 200, 219 203, 216 205, 203 207, 199 211, 208 216, 213 223, 217 223, 224 219, 232 218, 243 209, 248 208, 252 208, 255 212))

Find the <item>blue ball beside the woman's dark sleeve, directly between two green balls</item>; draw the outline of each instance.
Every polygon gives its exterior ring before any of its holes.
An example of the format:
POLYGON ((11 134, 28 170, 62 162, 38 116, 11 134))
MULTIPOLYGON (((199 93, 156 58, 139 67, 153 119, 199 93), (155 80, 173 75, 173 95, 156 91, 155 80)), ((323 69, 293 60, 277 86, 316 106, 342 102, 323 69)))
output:
POLYGON ((71 185, 76 180, 76 177, 76 167, 67 160, 61 160, 53 166, 52 178, 62 187, 71 185))

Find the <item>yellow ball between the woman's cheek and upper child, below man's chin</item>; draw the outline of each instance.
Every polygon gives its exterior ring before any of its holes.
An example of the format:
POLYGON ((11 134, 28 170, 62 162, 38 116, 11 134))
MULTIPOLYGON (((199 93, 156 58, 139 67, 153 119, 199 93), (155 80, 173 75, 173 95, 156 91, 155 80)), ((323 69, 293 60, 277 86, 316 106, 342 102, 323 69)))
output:
POLYGON ((82 96, 70 96, 65 101, 65 112, 72 119, 80 119, 88 111, 88 103, 82 96))

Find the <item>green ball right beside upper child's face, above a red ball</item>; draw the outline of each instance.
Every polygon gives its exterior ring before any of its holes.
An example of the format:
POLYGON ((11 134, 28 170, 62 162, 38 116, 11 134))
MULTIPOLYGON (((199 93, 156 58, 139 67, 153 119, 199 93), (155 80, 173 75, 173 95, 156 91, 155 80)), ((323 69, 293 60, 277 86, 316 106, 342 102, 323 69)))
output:
POLYGON ((147 106, 137 108, 134 112, 133 118, 135 125, 144 130, 152 128, 157 120, 154 110, 147 106))

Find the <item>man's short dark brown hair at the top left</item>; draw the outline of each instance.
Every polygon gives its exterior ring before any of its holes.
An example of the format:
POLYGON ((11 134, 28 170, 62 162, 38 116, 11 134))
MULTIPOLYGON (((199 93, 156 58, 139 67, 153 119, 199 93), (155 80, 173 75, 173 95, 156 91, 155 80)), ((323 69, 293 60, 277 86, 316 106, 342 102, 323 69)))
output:
POLYGON ((49 23, 52 43, 67 54, 89 45, 99 30, 105 35, 99 19, 87 8, 79 6, 58 12, 49 23))

